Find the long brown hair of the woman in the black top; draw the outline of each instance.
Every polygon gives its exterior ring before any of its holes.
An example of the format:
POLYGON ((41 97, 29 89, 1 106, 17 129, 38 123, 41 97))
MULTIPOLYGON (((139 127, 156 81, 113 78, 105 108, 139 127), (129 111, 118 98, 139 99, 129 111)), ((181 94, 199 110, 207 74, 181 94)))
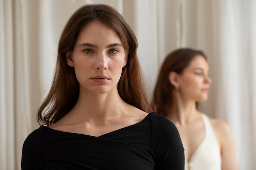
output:
POLYGON ((58 43, 58 56, 50 91, 38 109, 37 121, 47 126, 67 114, 79 96, 79 82, 74 67, 66 61, 67 51, 74 49, 78 35, 89 22, 99 21, 113 29, 127 52, 127 64, 117 84, 120 97, 128 104, 146 112, 153 111, 145 91, 144 77, 137 58, 137 39, 123 16, 105 4, 88 4, 77 9, 67 21, 58 43))

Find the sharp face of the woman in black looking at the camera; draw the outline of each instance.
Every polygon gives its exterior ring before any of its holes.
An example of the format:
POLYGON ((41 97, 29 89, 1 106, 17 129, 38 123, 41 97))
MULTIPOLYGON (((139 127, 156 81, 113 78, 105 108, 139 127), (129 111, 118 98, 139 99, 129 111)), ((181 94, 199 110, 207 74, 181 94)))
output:
POLYGON ((105 94, 117 89, 126 54, 115 31, 93 21, 80 32, 67 63, 75 69, 80 92, 105 94))

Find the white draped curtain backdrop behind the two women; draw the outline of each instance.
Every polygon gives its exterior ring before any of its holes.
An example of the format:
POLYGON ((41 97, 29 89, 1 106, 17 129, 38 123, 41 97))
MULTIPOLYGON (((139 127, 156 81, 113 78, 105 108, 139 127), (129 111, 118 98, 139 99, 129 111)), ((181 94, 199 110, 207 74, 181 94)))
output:
POLYGON ((20 170, 63 26, 88 3, 115 7, 134 30, 149 96, 169 52, 203 50, 213 83, 201 110, 230 125, 240 170, 256 169, 255 0, 0 0, 1 170, 20 170))

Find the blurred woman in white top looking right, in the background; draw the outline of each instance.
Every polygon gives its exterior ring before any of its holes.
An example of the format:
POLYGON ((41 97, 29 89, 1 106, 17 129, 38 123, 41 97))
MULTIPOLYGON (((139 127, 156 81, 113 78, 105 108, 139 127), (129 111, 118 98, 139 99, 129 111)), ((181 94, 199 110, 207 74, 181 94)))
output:
POLYGON ((182 48, 166 56, 154 90, 157 113, 177 127, 185 149, 185 170, 238 170, 228 124, 198 110, 211 78, 202 51, 182 48))

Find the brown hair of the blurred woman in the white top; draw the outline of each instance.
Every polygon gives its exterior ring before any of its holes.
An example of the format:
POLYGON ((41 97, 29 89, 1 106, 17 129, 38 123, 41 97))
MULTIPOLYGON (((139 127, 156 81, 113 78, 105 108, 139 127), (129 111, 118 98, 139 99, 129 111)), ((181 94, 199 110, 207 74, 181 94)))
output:
MULTIPOLYGON (((174 71, 177 74, 182 74, 184 68, 189 66, 191 60, 197 55, 202 55, 207 60, 202 51, 190 48, 177 49, 166 56, 153 93, 159 115, 167 116, 168 112, 175 113, 178 111, 175 87, 169 82, 169 73, 174 71)), ((198 106, 198 103, 196 105, 198 106)))

